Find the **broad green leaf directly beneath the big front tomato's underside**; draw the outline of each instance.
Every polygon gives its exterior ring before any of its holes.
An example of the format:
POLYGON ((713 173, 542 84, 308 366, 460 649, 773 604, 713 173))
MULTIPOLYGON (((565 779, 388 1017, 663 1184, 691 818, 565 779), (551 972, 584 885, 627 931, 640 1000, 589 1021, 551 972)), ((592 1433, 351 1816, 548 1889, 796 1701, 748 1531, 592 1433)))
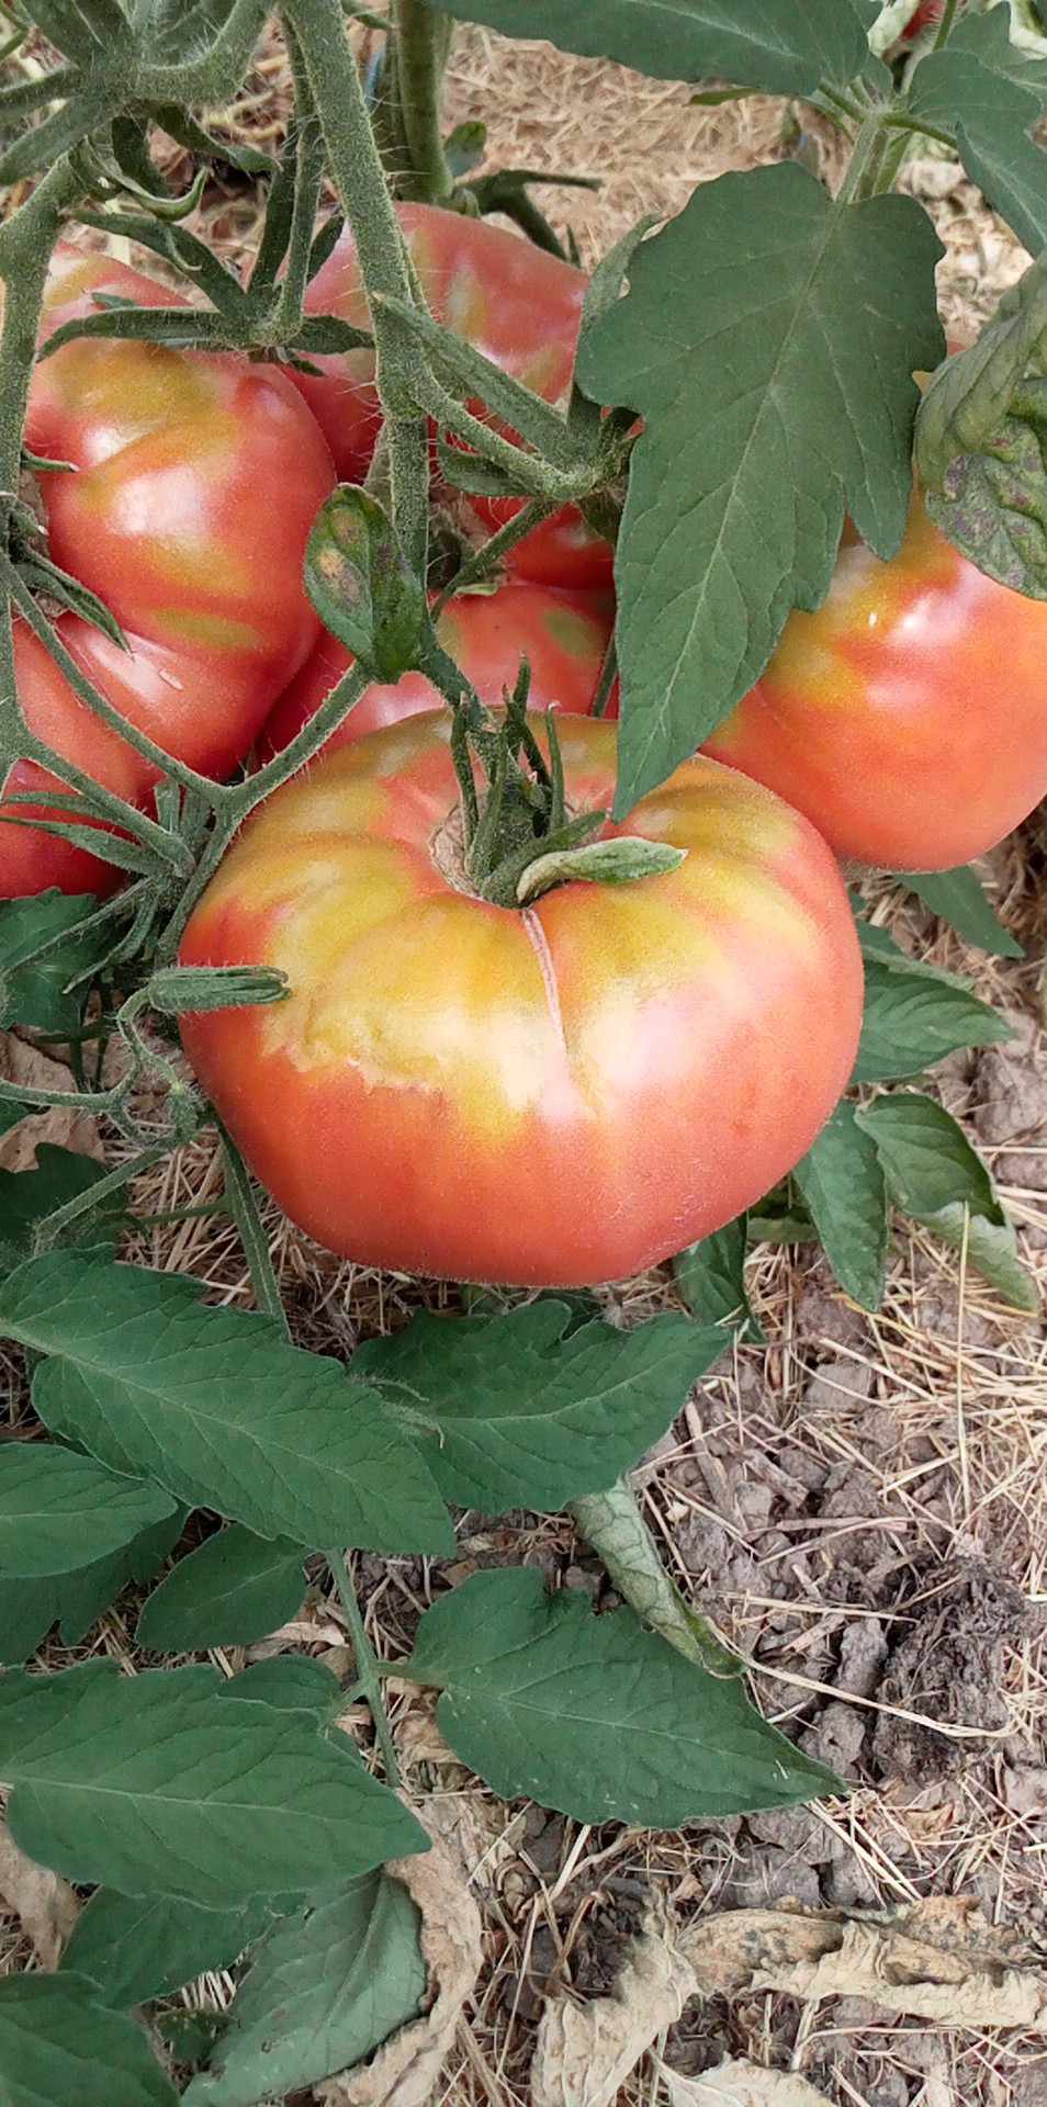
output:
POLYGON ((556 1300, 491 1319, 419 1311, 358 1346, 354 1370, 415 1429, 447 1500, 556 1509, 638 1462, 725 1344, 687 1317, 567 1332, 569 1317, 556 1300))

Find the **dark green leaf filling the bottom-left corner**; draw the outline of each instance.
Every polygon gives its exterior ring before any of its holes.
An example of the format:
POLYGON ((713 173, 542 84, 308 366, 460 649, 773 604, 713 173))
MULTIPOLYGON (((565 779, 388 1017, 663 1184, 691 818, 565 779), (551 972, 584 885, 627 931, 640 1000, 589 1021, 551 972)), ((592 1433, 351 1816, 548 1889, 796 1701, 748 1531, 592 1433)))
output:
POLYGON ((4 2107, 177 2107, 143 2029, 110 2012, 82 1976, 0 1983, 4 2107))

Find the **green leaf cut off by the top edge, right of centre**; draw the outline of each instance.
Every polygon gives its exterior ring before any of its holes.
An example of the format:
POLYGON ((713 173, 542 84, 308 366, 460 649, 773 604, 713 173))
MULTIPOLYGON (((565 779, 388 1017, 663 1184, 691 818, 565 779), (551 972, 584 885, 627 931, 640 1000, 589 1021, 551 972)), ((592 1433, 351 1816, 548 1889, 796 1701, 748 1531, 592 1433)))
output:
POLYGON ((503 36, 548 38, 586 59, 617 59, 655 80, 723 74, 771 95, 809 95, 870 63, 851 0, 428 0, 503 36))

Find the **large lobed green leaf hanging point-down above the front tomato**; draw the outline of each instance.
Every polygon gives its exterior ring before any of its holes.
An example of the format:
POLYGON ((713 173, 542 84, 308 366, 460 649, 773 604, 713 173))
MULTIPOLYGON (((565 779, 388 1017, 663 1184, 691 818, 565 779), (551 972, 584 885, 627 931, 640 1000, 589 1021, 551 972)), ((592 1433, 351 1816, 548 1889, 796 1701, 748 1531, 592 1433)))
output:
POLYGON ((645 417, 615 560, 617 818, 748 693, 790 609, 819 607, 847 506, 895 554, 940 255, 912 198, 834 202, 794 162, 725 175, 588 333, 586 394, 645 417))

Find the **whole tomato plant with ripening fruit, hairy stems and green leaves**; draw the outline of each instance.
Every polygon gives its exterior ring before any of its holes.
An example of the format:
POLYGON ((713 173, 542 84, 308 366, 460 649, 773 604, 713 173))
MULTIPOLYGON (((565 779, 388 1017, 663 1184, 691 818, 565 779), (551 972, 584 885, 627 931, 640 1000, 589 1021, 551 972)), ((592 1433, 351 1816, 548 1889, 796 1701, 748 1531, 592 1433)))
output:
MULTIPOLYGON (((904 1214, 959 1254, 961 1317, 975 1273, 1039 1315, 925 1087, 1007 1020, 836 862, 973 853, 1047 761, 1047 40, 1032 0, 946 0, 897 53, 904 15, 4 11, 0 1136, 32 1167, 0 1171, 0 1778, 34 1936, 55 1909, 0 1983, 2 2099, 255 2107, 364 2063, 377 2096, 386 2042, 396 2096, 440 2090, 480 1936, 455 1890, 436 1983, 411 1683, 491 1791, 584 1825, 845 1791, 792 1705, 754 1711, 628 1473, 725 1348, 765 1325, 792 1363, 754 1243, 819 1243, 876 1311, 904 1214), (801 143, 697 181, 586 278, 535 173, 445 137, 451 17, 676 101, 784 97, 841 175, 801 143), (293 112, 230 133, 284 59, 293 112), (950 358, 921 141, 1034 257, 950 358), (51 1110, 105 1161, 32 1161, 51 1110), (383 1336, 257 1184, 396 1268, 383 1336), (577 1530, 619 1606, 461 1580, 455 1511, 516 1517, 489 1544, 560 1515, 550 1555, 577 1530), (345 1547, 434 1561, 390 1662, 345 1547), (173 2010, 209 1970, 221 2029, 173 2010)), ((912 891, 1020 954, 971 870, 912 891)))

